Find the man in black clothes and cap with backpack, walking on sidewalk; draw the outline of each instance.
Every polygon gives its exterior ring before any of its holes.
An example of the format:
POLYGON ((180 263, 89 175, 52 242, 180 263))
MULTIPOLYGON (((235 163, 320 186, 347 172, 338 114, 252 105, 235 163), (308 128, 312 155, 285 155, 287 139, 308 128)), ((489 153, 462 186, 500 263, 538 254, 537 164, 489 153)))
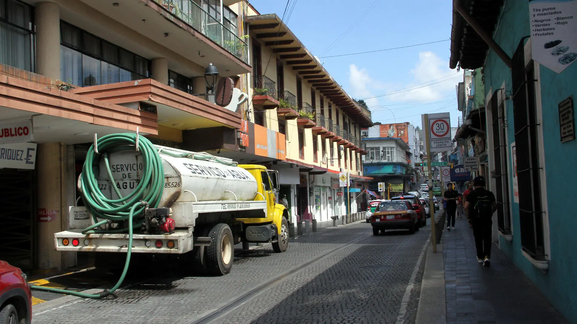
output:
POLYGON ((485 184, 484 176, 479 175, 473 179, 475 190, 467 195, 464 209, 473 223, 477 261, 490 266, 492 217, 497 210, 497 202, 493 193, 485 189, 485 184))

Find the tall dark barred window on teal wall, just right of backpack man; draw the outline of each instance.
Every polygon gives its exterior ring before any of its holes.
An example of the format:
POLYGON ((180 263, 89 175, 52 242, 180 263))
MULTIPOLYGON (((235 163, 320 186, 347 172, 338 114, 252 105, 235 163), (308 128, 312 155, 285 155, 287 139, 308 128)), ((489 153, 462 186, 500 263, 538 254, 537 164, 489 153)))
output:
POLYGON ((507 167, 507 140, 505 138, 504 104, 498 104, 497 94, 501 89, 493 92, 488 102, 487 110, 491 112, 493 124, 493 158, 495 168, 495 199, 497 201, 497 227, 505 234, 511 233, 509 220, 509 180, 507 167))

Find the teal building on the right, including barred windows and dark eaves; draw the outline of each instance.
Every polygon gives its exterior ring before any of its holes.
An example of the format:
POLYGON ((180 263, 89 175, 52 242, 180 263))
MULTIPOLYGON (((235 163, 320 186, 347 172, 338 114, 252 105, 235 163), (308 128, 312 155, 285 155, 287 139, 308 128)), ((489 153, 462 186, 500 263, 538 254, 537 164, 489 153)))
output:
MULTIPOLYGON (((577 157, 572 113, 577 65, 554 48, 541 55, 546 37, 559 36, 533 31, 533 3, 454 2, 455 12, 467 7, 470 14, 464 15, 468 21, 454 14, 450 67, 480 74, 484 85, 485 114, 478 120, 486 125, 485 175, 499 207, 495 244, 557 310, 577 322, 577 260, 571 249, 577 220, 567 216, 571 212, 559 194, 576 180, 567 163, 577 157), (492 35, 493 42, 485 43, 479 32, 492 35), (551 55, 559 59, 550 61, 551 55)), ((561 11, 542 16, 555 20, 561 11)), ((481 101, 478 88, 474 94, 474 101, 481 101)))

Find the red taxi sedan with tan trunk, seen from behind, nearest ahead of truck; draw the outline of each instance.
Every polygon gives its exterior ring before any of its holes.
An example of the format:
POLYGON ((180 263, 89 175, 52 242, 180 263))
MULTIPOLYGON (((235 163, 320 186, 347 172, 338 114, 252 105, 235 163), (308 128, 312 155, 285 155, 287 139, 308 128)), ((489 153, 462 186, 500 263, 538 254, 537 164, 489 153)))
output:
POLYGON ((387 229, 406 228, 411 234, 419 230, 417 212, 409 200, 381 202, 370 217, 370 225, 373 235, 379 235, 379 231, 384 233, 387 229))

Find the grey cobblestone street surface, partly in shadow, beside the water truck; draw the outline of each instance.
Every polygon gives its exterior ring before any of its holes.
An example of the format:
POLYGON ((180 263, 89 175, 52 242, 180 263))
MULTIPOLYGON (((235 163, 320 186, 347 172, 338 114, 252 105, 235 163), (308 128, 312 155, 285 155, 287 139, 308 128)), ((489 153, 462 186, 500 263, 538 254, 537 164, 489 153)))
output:
MULTIPOLYGON (((321 228, 285 253, 237 250, 227 276, 147 269, 116 299, 51 300, 33 323, 414 323, 429 235, 430 218, 414 235, 373 236, 361 222, 321 228)), ((74 276, 83 289, 115 281, 98 269, 74 276)))

